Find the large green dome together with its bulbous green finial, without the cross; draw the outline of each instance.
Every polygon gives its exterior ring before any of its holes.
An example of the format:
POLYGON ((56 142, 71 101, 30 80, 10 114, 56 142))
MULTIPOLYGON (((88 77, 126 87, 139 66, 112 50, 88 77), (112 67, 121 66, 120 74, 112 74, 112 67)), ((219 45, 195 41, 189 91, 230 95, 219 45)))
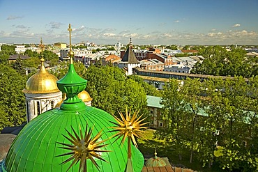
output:
MULTIPOLYGON (((70 134, 74 137, 74 133, 80 135, 80 130, 85 132, 86 125, 93 127, 92 136, 102 131, 98 141, 104 142, 101 143, 103 146, 99 149, 110 151, 98 152, 97 154, 102 159, 93 157, 99 170, 125 171, 128 160, 127 146, 121 146, 121 139, 116 141, 116 138, 112 137, 114 133, 109 132, 112 130, 110 127, 114 126, 109 121, 114 123, 116 121, 107 112, 88 107, 77 97, 77 94, 85 89, 86 80, 77 75, 73 64, 70 64, 67 75, 57 81, 57 85, 63 93, 67 94, 67 99, 61 104, 60 109, 46 111, 25 125, 10 146, 5 162, 0 166, 0 171, 67 171, 73 160, 62 164, 72 157, 72 155, 59 156, 70 153, 70 150, 66 149, 63 144, 71 145, 70 134)), ((87 159, 87 171, 98 171, 96 164, 87 159)), ((136 172, 142 171, 144 166, 142 153, 135 146, 132 146, 132 166, 136 172)), ((75 162, 68 171, 79 171, 79 169, 80 163, 75 162)))

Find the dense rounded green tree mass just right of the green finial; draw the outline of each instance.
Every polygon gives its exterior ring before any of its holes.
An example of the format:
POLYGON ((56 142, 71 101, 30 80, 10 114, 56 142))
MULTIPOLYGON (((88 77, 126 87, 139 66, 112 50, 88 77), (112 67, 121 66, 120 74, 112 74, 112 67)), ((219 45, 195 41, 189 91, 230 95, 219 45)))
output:
POLYGON ((116 115, 126 107, 146 113, 146 92, 136 81, 126 79, 123 70, 109 65, 91 65, 84 78, 88 80, 86 91, 93 97, 93 107, 116 115))

